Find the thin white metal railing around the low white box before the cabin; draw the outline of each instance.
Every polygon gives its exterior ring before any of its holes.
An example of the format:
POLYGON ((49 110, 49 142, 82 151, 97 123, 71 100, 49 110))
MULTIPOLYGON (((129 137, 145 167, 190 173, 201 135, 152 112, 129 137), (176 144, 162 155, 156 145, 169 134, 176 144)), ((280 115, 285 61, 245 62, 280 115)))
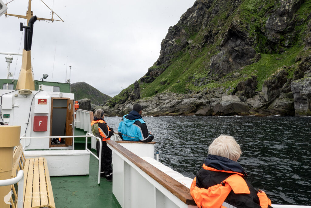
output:
MULTIPOLYGON (((91 152, 88 148, 87 148, 87 138, 88 137, 94 137, 96 140, 98 141, 101 141, 101 139, 99 137, 95 137, 93 134, 91 133, 86 133, 85 136, 46 136, 46 137, 25 137, 26 134, 23 134, 20 138, 20 140, 22 139, 22 146, 23 146, 23 149, 25 149, 25 139, 33 139, 33 138, 73 138, 72 140, 72 145, 73 145, 73 149, 72 150, 75 150, 75 146, 74 146, 74 138, 82 138, 82 137, 85 137, 85 150, 90 152, 96 159, 99 160, 99 164, 98 164, 98 184, 100 184, 100 168, 101 168, 101 157, 97 157, 93 152, 91 152)), ((100 142, 99 143, 100 145, 100 151, 99 151, 99 155, 101 155, 101 146, 102 146, 102 143, 100 142)), ((70 151, 70 150, 68 150, 70 151)))

